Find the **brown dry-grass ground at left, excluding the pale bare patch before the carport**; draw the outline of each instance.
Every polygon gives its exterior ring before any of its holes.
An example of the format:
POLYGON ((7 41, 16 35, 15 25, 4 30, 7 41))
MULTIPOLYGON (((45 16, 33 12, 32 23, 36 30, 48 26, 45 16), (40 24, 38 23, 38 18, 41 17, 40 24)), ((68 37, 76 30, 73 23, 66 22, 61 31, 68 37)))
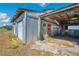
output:
POLYGON ((10 31, 0 32, 0 56, 41 56, 52 55, 52 53, 31 49, 33 42, 23 45, 19 40, 9 41, 8 36, 12 35, 10 31), (16 49, 8 48, 11 44, 18 44, 16 49))

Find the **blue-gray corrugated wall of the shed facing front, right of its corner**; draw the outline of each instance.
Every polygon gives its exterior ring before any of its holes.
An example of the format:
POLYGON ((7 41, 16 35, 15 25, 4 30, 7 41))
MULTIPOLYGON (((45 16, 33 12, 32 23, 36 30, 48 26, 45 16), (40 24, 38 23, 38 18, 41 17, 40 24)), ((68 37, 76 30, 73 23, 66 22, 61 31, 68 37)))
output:
POLYGON ((38 39, 38 20, 27 18, 27 41, 38 39))

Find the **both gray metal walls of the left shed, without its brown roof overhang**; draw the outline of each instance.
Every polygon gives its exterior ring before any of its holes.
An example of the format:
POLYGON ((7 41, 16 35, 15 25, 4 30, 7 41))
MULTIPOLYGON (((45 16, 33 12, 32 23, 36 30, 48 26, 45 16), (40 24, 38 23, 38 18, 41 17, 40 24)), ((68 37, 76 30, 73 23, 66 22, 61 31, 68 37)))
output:
POLYGON ((37 40, 40 37, 40 19, 30 18, 29 16, 38 17, 38 14, 24 12, 14 25, 14 33, 23 42, 37 40))

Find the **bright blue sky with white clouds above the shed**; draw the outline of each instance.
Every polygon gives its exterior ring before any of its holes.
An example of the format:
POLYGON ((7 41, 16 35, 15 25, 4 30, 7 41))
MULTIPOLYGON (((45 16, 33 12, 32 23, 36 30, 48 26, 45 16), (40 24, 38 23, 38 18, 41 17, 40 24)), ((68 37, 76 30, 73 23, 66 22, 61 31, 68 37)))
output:
POLYGON ((57 10, 68 5, 71 3, 0 3, 0 26, 12 25, 10 21, 18 8, 43 11, 57 10))

